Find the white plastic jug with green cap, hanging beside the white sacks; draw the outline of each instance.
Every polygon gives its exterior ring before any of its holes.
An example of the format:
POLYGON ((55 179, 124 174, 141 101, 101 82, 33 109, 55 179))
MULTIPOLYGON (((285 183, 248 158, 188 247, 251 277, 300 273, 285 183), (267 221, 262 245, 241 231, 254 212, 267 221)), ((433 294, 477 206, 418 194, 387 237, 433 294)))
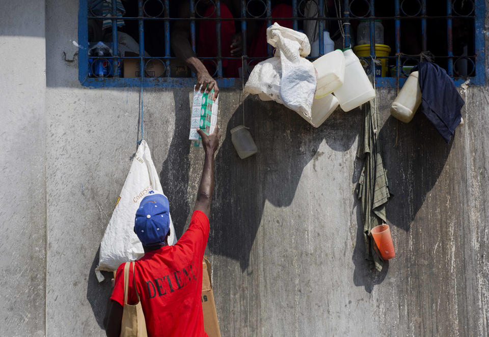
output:
POLYGON ((340 102, 341 109, 350 111, 375 98, 375 90, 357 55, 349 48, 343 52, 343 55, 345 55, 345 78, 343 85, 333 93, 340 102))

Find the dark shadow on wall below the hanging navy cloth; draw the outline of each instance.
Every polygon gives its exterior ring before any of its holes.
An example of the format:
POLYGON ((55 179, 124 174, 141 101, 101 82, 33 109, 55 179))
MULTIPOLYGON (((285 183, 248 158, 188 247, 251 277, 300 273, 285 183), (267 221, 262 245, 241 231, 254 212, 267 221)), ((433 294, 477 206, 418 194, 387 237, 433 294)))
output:
POLYGON ((447 144, 421 111, 408 124, 392 116, 387 119, 379 138, 388 170, 389 190, 393 194, 386 209, 387 220, 393 226, 410 230, 426 195, 445 167, 457 132, 447 144))

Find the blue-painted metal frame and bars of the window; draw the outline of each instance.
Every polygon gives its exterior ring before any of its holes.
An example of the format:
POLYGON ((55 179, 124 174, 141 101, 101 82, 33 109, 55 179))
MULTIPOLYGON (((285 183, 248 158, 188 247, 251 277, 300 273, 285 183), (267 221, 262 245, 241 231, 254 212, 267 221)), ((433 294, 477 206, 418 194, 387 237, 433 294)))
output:
MULTIPOLYGON (((124 78, 124 77, 89 77, 89 56, 88 56, 88 19, 89 19, 89 13, 88 13, 88 4, 91 0, 79 0, 79 12, 78 12, 78 43, 80 46, 83 46, 82 48, 79 48, 78 52, 78 79, 80 81, 80 84, 83 86, 87 87, 92 87, 92 88, 99 88, 99 87, 192 87, 195 84, 195 78, 193 77, 145 77, 144 72, 142 72, 141 77, 137 78, 124 78)), ((140 0, 141 1, 141 0, 140 0)), ((143 2, 145 0, 142 0, 143 2)), ((303 0, 304 1, 304 0, 303 0)), ((324 0, 316 0, 318 3, 318 7, 322 9, 322 6, 324 4, 324 0)), ((369 6, 370 6, 370 13, 373 13, 373 4, 374 0, 363 0, 365 1, 369 6)), ((400 20, 402 20, 402 17, 399 15, 399 4, 403 0, 395 0, 396 3, 396 15, 392 17, 395 22, 396 22, 396 30, 397 26, 399 25, 400 20)), ((427 0, 419 0, 420 6, 423 6, 426 4, 427 0)), ((454 1, 457 0, 446 0, 447 1, 447 10, 451 10, 451 6, 448 4, 452 4, 454 1), (450 8, 450 9, 449 9, 450 8)), ((160 1, 164 6, 167 6, 168 8, 169 5, 169 0, 161 0, 160 1)), ((219 11, 219 1, 218 2, 218 13, 219 11)), ((301 1, 302 2, 302 1, 301 1)), ((484 35, 484 26, 485 26, 485 0, 472 0, 474 4, 474 47, 475 47, 475 62, 474 62, 474 67, 475 67, 475 76, 468 77, 470 80, 470 85, 485 85, 485 35, 484 35)), ((113 3, 115 3, 115 0, 113 0, 113 3)), ((266 2, 267 5, 269 5, 269 1, 266 2)), ((349 4, 351 3, 351 0, 343 0, 343 5, 344 8, 347 9, 349 7, 349 4)), ((292 1, 292 5, 294 6, 293 9, 293 16, 297 17, 297 0, 292 1)), ((114 7, 113 10, 113 17, 116 17, 116 13, 114 12, 116 9, 114 7)), ((263 18, 263 20, 267 20, 268 24, 271 24, 271 18, 268 16, 270 15, 270 11, 267 11, 267 17, 263 18)), ((348 11, 343 11, 343 13, 348 13, 348 11)), ((244 16, 246 13, 241 13, 241 16, 244 16)), ((423 14, 423 13, 421 13, 423 14)), ((419 15, 418 15, 419 16, 419 15)), ((144 17, 142 13, 138 17, 144 17)), ((168 14, 167 14, 168 17, 168 14)), ((456 18, 457 16, 453 15, 447 15, 447 31, 451 33, 451 20, 452 18, 456 18)), ((110 17, 107 17, 110 18, 110 17)), ((373 20, 377 19, 378 17, 375 16, 365 16, 365 17, 348 17, 348 14, 344 14, 342 17, 343 22, 349 22, 349 20, 352 19, 368 19, 373 23, 373 20)), ((422 24, 426 24, 426 18, 427 16, 421 16, 422 24)), ((192 18, 191 18, 192 19, 192 18)), ((241 20, 241 24, 243 25, 244 23, 244 30, 246 31, 246 19, 242 18, 236 18, 237 20, 241 20)), ((382 19, 382 18, 381 18, 382 19)), ((142 27, 142 22, 144 22, 145 19, 138 19, 140 22, 140 28, 142 27)), ((300 19, 293 19, 294 21, 294 28, 297 28, 297 21, 300 19)), ((319 20, 319 29, 321 30, 323 26, 324 20, 320 20, 320 17, 318 18, 319 20)), ((331 20, 331 18, 330 18, 331 20)), ((335 18, 337 20, 337 18, 335 18)), ((113 28, 116 28, 117 25, 117 20, 112 20, 113 21, 113 28)), ((170 60, 175 59, 175 57, 170 57, 168 50, 169 50, 169 45, 170 45, 170 20, 165 20, 164 18, 161 19, 161 21, 165 22, 165 35, 166 35, 166 44, 168 44, 168 47, 166 48, 167 50, 167 55, 164 57, 164 61, 162 61, 167 67, 170 65, 170 60)), ((195 35, 195 21, 194 22, 194 28, 192 34, 195 35)), ((218 27, 220 26, 219 21, 218 22, 218 27)), ((344 27, 346 29, 349 28, 348 24, 344 24, 344 27)), ((373 24, 371 24, 373 26, 373 24)), ((116 28, 117 29, 117 28, 116 28)), ((400 28, 399 28, 400 29, 400 28)), ((113 29, 114 30, 114 29, 113 29)), ((346 30, 345 30, 346 32, 346 30)), ((372 36, 373 34, 371 34, 372 36)), ((216 35, 216 38, 220 37, 220 34, 216 35)), ((116 38, 117 35, 113 34, 113 37, 116 38)), ((142 37, 142 33, 140 31, 140 37, 142 37)), ((397 41, 397 39, 396 39, 397 41)), ((320 45, 320 52, 322 52, 322 35, 319 34, 319 45, 320 45)), ((349 45, 349 41, 345 40, 345 45, 349 45)), ((396 46, 397 47, 397 46, 396 46)), ((144 49, 144 43, 143 47, 144 49)), ((141 48, 140 48, 141 49, 141 48)), ((394 48, 395 49, 395 48, 394 48)), ((373 50, 373 43, 371 42, 371 51, 373 50)), ((116 50, 117 51, 117 50, 116 50)), ((395 51, 395 50, 394 50, 395 51)), ((451 58, 452 60, 457 57, 453 56, 453 53, 451 51, 447 51, 448 57, 451 58)), ((392 56, 390 56, 392 58, 392 56)), ((113 56, 113 58, 119 58, 113 56)), ((138 57, 140 59, 140 66, 143 66, 144 68, 144 58, 138 57)), ((159 57, 155 57, 159 58, 159 57)), ((245 56, 247 64, 252 61, 253 58, 245 56)), ((453 62, 453 61, 452 61, 453 62)), ((398 63, 398 60, 396 59, 396 65, 398 63)), ((219 66, 220 65, 220 59, 216 58, 216 64, 219 66)), ((373 65, 373 64, 372 64, 373 65)), ((371 67, 373 68, 373 67, 371 67)), ((169 74, 169 70, 167 71, 167 74, 169 74)), ((218 83, 220 88, 241 88, 242 86, 242 79, 241 78, 215 78, 216 82, 218 83)), ((396 86, 402 86, 405 82, 406 78, 399 78, 399 81, 396 77, 376 77, 375 78, 375 85, 376 87, 396 87, 396 86)), ((455 85, 460 86, 464 82, 466 82, 466 79, 464 78, 454 78, 455 85)))

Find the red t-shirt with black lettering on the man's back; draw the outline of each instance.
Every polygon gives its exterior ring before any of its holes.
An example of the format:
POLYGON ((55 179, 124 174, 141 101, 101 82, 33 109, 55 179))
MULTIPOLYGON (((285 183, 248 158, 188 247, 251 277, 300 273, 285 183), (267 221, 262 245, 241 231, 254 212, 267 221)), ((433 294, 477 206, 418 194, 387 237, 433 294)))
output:
MULTIPOLYGON (((175 246, 146 253, 135 262, 136 287, 149 337, 207 337, 202 316, 202 259, 209 220, 200 210, 175 246)), ((111 299, 124 305, 124 263, 117 269, 111 299)), ((128 303, 138 299, 129 270, 128 303)))

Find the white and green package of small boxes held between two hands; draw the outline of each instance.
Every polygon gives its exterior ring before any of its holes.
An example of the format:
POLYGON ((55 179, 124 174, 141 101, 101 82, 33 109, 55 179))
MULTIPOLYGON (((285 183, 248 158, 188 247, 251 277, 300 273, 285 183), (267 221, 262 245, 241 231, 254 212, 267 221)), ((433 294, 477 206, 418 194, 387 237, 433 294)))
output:
POLYGON ((218 124, 219 97, 215 101, 212 101, 211 97, 213 96, 214 89, 210 90, 209 94, 202 94, 197 86, 194 86, 190 135, 188 139, 193 140, 195 147, 202 147, 202 138, 197 133, 197 129, 200 128, 207 135, 210 135, 214 132, 214 128, 218 124))

